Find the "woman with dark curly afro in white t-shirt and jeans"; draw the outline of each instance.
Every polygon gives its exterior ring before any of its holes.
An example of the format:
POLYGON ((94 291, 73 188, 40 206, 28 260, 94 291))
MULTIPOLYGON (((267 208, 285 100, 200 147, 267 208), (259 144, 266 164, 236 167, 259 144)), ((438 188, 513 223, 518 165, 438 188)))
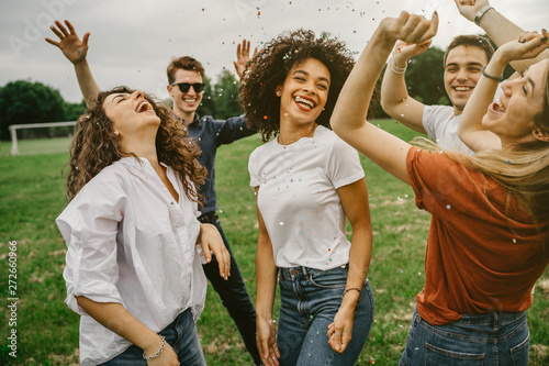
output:
POLYGON ((365 173, 358 153, 329 130, 352 65, 343 42, 299 30, 258 53, 240 87, 248 123, 267 142, 249 158, 259 221, 257 345, 266 365, 352 365, 370 331, 365 173))

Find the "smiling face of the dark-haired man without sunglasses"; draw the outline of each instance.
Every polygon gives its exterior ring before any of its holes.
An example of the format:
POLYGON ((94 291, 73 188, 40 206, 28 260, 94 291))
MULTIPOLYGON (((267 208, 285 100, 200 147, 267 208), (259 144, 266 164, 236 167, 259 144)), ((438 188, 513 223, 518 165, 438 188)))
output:
POLYGON ((445 66, 445 89, 453 104, 453 113, 461 114, 488 65, 484 49, 475 46, 457 46, 448 53, 445 66))

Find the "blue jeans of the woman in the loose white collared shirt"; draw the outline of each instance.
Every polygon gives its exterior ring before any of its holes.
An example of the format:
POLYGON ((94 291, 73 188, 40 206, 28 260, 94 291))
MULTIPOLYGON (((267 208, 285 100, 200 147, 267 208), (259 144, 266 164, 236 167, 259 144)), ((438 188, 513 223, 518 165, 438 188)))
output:
MULTIPOLYGON (((192 319, 191 309, 180 313, 171 324, 160 333, 176 352, 181 365, 205 366, 204 355, 200 346, 199 334, 192 319)), ((143 350, 136 345, 130 346, 124 353, 102 364, 103 366, 146 366, 143 350)))

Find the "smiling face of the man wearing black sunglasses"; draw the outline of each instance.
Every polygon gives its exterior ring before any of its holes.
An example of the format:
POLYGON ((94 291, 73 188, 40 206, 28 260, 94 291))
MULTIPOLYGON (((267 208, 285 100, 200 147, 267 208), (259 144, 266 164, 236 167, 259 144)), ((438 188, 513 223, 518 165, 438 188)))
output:
MULTIPOLYGON (((189 84, 199 84, 202 82, 202 76, 192 70, 186 70, 179 68, 175 73, 175 81, 172 84, 178 82, 189 82, 189 84)), ((173 111, 180 118, 192 114, 197 111, 202 101, 203 92, 197 92, 194 88, 189 88, 187 92, 182 92, 178 86, 168 86, 168 92, 173 98, 173 111)), ((192 121, 191 121, 192 122, 192 121)))

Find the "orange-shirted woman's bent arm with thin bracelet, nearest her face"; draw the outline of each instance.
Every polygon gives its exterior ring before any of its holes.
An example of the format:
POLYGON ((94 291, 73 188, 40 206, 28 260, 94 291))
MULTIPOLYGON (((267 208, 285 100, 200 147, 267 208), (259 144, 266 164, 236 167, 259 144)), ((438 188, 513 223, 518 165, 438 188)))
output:
POLYGON ((534 58, 546 49, 548 45, 549 41, 547 36, 530 34, 527 38, 522 38, 520 42, 507 42, 494 53, 484 69, 483 76, 469 98, 459 122, 458 136, 472 151, 502 148, 500 137, 482 125, 482 119, 486 114, 497 88, 497 81, 493 78, 501 77, 505 65, 508 63, 534 58))

